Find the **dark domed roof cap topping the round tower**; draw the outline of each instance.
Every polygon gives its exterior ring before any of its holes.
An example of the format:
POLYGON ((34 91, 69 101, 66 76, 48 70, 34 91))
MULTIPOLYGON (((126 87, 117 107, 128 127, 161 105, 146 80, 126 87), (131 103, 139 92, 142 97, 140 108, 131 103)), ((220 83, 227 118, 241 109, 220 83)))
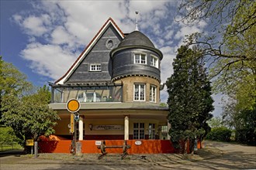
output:
POLYGON ((154 44, 150 41, 150 39, 139 31, 133 31, 126 36, 122 42, 119 43, 118 47, 123 46, 147 46, 154 48, 154 44))

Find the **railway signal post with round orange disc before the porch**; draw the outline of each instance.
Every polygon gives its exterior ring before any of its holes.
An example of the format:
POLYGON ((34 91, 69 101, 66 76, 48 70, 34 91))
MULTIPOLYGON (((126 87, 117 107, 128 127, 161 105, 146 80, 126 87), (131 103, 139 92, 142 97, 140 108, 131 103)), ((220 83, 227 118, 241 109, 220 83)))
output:
POLYGON ((73 134, 72 148, 71 151, 73 154, 76 154, 76 122, 79 121, 79 113, 81 105, 78 100, 71 99, 67 101, 67 110, 71 112, 71 124, 70 132, 73 134))

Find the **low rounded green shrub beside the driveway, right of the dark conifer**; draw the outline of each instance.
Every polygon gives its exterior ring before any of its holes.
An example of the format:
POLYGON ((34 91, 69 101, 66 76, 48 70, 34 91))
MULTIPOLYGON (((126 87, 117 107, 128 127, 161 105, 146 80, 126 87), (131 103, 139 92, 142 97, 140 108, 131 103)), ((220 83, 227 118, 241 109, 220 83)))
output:
POLYGON ((230 141, 232 131, 225 127, 212 128, 206 135, 206 139, 212 141, 230 141))

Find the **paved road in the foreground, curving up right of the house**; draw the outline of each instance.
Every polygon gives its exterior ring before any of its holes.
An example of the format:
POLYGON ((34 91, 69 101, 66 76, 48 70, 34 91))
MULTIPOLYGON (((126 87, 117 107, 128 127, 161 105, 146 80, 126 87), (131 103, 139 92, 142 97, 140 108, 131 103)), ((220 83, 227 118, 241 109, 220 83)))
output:
POLYGON ((213 141, 204 145, 205 154, 197 161, 178 159, 180 155, 147 155, 146 160, 113 155, 99 161, 95 155, 83 161, 0 155, 0 169, 256 169, 256 147, 213 141))

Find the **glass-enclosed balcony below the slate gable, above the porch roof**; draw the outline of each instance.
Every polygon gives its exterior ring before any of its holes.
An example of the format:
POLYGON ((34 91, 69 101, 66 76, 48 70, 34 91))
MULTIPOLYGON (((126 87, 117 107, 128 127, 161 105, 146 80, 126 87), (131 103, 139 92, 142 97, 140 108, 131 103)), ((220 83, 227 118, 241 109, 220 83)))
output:
POLYGON ((123 87, 121 85, 95 87, 52 86, 51 89, 51 103, 66 103, 70 99, 76 99, 81 103, 123 101, 123 87))

